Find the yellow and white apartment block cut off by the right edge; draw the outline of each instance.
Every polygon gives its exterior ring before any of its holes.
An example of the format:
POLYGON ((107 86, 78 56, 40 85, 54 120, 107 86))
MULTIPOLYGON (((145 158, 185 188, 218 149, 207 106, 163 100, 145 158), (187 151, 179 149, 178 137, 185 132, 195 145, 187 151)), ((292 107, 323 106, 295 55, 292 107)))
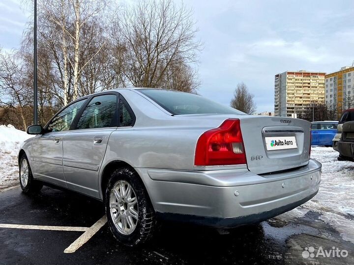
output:
POLYGON ((325 75, 325 103, 342 111, 354 107, 354 67, 345 66, 341 70, 325 75))

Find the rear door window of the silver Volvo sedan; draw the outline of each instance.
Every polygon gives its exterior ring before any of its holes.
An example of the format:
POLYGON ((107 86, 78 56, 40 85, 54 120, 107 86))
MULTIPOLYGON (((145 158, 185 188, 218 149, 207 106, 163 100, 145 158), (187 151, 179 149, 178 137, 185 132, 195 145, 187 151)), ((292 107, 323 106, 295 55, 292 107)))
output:
POLYGON ((92 98, 81 115, 76 129, 117 126, 117 96, 101 95, 92 98))

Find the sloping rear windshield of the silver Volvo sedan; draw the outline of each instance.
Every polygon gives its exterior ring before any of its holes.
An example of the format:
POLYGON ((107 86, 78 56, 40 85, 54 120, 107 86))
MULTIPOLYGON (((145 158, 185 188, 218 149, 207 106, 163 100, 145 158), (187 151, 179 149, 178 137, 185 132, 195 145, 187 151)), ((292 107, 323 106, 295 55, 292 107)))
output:
POLYGON ((235 108, 224 106, 202 96, 164 89, 140 89, 158 105, 173 115, 183 114, 245 114, 235 108))

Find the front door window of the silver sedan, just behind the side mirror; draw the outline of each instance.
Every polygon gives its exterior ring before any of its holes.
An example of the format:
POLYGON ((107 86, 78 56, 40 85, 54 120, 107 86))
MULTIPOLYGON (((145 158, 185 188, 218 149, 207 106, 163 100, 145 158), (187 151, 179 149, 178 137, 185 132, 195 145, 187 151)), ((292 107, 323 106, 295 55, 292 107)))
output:
POLYGON ((57 116, 55 116, 48 126, 48 130, 52 132, 68 131, 71 123, 83 106, 86 100, 75 102, 64 108, 57 116))

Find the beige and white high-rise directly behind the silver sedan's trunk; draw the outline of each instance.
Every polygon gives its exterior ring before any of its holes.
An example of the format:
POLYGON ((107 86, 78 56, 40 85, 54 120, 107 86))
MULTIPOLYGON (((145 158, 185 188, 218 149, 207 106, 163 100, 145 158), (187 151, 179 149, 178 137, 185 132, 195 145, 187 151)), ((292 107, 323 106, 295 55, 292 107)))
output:
POLYGON ((284 72, 274 79, 274 114, 296 117, 313 104, 324 104, 323 72, 284 72))

